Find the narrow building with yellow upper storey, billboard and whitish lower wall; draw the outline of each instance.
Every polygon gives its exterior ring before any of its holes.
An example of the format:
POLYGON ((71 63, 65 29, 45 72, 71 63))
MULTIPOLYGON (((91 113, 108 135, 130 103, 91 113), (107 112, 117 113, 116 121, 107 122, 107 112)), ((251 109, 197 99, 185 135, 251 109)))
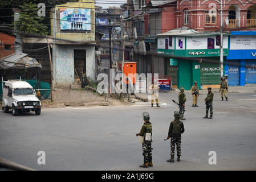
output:
POLYGON ((81 0, 55 6, 51 18, 55 86, 69 87, 83 74, 95 80, 95 1, 81 0))

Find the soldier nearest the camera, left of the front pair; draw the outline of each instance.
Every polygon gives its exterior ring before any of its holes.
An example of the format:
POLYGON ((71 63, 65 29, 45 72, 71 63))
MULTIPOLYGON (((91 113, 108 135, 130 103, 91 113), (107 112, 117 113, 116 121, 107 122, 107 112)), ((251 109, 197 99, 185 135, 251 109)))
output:
POLYGON ((149 113, 143 112, 144 125, 141 127, 140 133, 137 133, 136 136, 143 137, 143 156, 144 156, 144 164, 140 165, 140 167, 152 167, 152 125, 149 122, 149 113))

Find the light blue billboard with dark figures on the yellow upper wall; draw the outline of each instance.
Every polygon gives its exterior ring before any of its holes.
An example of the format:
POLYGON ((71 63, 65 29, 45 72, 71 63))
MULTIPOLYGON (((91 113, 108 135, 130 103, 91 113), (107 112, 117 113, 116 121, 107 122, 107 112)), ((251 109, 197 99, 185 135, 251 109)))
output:
POLYGON ((91 31, 91 10, 60 9, 60 30, 91 31))

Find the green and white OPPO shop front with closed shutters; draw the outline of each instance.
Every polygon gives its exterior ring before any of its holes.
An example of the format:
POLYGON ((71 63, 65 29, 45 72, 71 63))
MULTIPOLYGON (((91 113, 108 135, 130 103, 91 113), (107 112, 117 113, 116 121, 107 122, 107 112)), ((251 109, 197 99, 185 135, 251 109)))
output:
MULTIPOLYGON (((157 54, 168 57, 166 75, 173 87, 190 89, 197 81, 200 88, 220 86, 220 35, 218 32, 169 31, 157 35, 157 54), (182 35, 182 36, 181 36, 182 35)), ((229 53, 228 35, 224 35, 224 56, 229 53)))

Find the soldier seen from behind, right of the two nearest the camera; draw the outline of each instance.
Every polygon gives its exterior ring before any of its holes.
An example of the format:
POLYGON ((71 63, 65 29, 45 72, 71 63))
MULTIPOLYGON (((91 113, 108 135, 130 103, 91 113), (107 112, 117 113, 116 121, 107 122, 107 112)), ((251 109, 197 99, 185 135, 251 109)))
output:
POLYGON ((170 127, 168 131, 168 137, 170 138, 170 159, 166 160, 167 162, 174 162, 174 151, 175 144, 177 146, 177 161, 180 161, 181 156, 181 134, 184 133, 184 125, 182 121, 180 121, 180 113, 178 111, 174 111, 175 119, 170 122, 170 127))

